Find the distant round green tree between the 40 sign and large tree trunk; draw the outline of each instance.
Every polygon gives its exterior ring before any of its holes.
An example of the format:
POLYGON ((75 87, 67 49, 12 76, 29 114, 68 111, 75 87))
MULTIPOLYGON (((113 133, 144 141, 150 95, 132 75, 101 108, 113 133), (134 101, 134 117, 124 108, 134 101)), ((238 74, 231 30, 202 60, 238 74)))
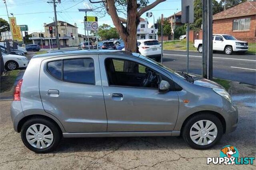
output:
MULTIPOLYGON (((91 31, 90 33, 96 35, 95 31, 91 31)), ((110 25, 108 24, 102 24, 99 26, 98 35, 102 40, 120 37, 118 32, 116 31, 116 28, 110 27, 110 25)))

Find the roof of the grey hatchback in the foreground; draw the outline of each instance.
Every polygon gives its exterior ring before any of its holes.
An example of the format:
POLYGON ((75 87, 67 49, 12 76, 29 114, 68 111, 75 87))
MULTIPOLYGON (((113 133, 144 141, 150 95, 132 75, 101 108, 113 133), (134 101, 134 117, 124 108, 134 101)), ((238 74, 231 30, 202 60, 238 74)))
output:
POLYGON ((57 51, 52 53, 46 53, 41 55, 35 55, 33 58, 40 58, 40 57, 62 57, 66 55, 88 55, 88 54, 113 54, 113 53, 120 53, 124 54, 127 53, 121 50, 73 50, 73 51, 57 51))

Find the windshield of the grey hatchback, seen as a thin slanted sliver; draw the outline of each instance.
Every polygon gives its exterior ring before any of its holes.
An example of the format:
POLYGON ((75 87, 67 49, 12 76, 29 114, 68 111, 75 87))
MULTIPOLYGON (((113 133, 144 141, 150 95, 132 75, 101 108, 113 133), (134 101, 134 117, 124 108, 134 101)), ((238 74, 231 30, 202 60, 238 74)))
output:
POLYGON ((188 74, 185 74, 184 72, 177 72, 175 70, 172 70, 172 69, 170 69, 170 68, 168 68, 168 67, 166 67, 166 66, 164 66, 164 65, 162 65, 162 64, 160 64, 160 63, 158 63, 158 62, 156 62, 156 61, 154 61, 154 60, 152 60, 148 57, 140 55, 139 53, 132 53, 132 55, 134 57, 139 57, 140 59, 146 60, 146 61, 148 61, 148 62, 150 62, 154 65, 160 66, 160 67, 164 68, 164 70, 166 70, 168 72, 171 72, 172 74, 175 74, 176 76, 179 76, 180 78, 183 78, 184 80, 186 80, 188 82, 194 83, 194 78, 192 76, 188 75, 188 74))

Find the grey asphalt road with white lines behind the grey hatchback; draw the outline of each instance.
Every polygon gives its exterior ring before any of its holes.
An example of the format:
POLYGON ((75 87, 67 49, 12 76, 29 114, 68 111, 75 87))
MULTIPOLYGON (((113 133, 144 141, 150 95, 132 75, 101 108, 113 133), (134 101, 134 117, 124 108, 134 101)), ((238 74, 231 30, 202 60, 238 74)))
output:
MULTIPOLYGON (((186 51, 164 51, 163 64, 186 72, 186 51)), ((189 72, 202 74, 202 54, 190 52, 189 72)), ((246 84, 256 84, 255 55, 213 54, 213 76, 246 84)))

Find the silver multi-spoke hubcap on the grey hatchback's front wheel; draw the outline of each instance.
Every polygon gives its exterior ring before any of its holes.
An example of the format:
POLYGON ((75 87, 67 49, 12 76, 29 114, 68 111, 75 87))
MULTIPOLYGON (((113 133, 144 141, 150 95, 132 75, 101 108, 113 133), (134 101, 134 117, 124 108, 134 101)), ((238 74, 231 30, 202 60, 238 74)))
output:
POLYGON ((194 123, 189 134, 197 145, 209 145, 216 139, 218 129, 212 121, 200 120, 194 123))

